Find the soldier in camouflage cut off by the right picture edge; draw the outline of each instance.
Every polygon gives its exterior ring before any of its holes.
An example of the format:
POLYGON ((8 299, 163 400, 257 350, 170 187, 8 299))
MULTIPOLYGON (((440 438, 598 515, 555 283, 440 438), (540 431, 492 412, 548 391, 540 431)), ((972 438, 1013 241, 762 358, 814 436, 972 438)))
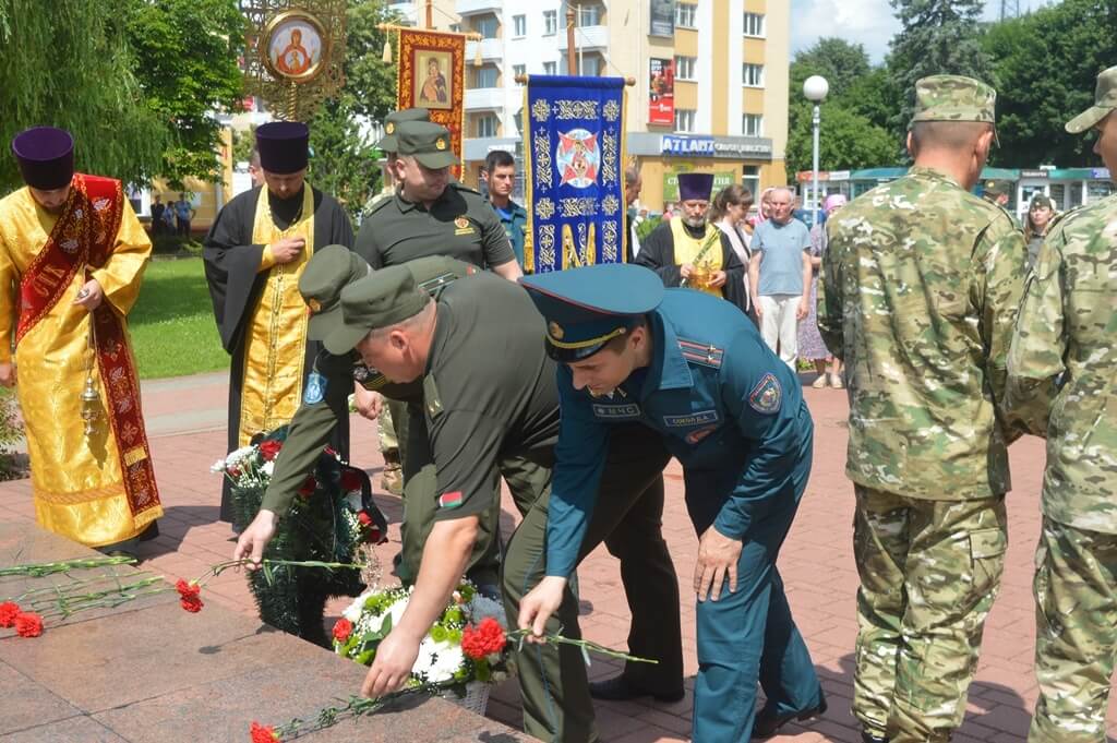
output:
MULTIPOLYGON (((1067 124, 1098 131, 1117 174, 1117 67, 1067 124)), ((1029 278, 1009 353, 1009 404, 1048 439, 1035 553, 1031 743, 1104 743, 1117 656, 1117 196, 1056 223, 1029 278), (1031 415, 1025 417, 1031 418, 1031 415)))

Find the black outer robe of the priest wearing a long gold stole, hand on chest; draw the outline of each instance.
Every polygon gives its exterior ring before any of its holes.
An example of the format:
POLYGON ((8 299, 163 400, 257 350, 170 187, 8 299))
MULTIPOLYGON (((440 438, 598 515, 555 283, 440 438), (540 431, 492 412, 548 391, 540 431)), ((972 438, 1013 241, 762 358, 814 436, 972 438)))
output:
MULTIPOLYGON (((245 377, 245 333, 251 327, 251 312, 259 299, 267 280, 267 272, 260 272, 264 245, 252 244, 252 225, 256 221, 256 204, 260 188, 240 193, 227 203, 209 235, 206 236, 202 257, 206 261, 206 280, 209 283, 210 298, 213 301, 213 316, 217 318, 221 345, 231 356, 229 365, 229 425, 228 450, 240 447, 240 399, 245 377)), ((304 185, 303 188, 307 188, 304 185)), ((353 225, 337 200, 313 187, 314 194, 314 249, 327 245, 344 245, 353 249, 353 225)), ((299 218, 303 206, 303 190, 280 199, 268 192, 268 203, 276 227, 287 229, 299 218)), ((303 364, 303 384, 314 368, 314 359, 322 344, 306 341, 306 361, 303 364)), ((349 459, 349 421, 334 429, 331 446, 349 459)), ((232 521, 233 507, 230 483, 226 477, 221 487, 221 521, 232 521)))

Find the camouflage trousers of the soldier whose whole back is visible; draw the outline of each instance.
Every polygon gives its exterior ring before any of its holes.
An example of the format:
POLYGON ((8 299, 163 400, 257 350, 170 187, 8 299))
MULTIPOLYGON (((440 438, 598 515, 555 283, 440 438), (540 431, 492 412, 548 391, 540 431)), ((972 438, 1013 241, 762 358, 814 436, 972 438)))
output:
POLYGON ((853 715, 892 743, 948 741, 962 724, 1001 583, 1004 496, 926 501, 855 490, 853 715))

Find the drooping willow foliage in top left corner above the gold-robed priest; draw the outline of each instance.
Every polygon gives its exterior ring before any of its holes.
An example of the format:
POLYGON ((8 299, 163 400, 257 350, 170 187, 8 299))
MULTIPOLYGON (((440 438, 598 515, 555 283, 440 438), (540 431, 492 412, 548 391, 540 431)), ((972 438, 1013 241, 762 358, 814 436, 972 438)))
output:
MULTIPOLYGON (((61 126, 80 171, 131 183, 159 172, 168 131, 136 80, 124 17, 120 2, 0 0, 0 146, 28 126, 61 126)), ((0 158, 0 193, 21 183, 0 158)))

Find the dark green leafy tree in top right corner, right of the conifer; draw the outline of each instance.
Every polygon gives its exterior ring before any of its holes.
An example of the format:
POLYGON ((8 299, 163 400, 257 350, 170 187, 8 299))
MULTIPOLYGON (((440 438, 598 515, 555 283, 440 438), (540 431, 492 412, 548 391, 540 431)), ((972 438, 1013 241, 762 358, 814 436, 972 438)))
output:
POLYGON ((1063 0, 994 23, 983 39, 993 58, 997 132, 993 160, 1008 166, 1097 164, 1089 137, 1063 124, 1094 103, 1095 77, 1114 57, 1117 0, 1063 0))

